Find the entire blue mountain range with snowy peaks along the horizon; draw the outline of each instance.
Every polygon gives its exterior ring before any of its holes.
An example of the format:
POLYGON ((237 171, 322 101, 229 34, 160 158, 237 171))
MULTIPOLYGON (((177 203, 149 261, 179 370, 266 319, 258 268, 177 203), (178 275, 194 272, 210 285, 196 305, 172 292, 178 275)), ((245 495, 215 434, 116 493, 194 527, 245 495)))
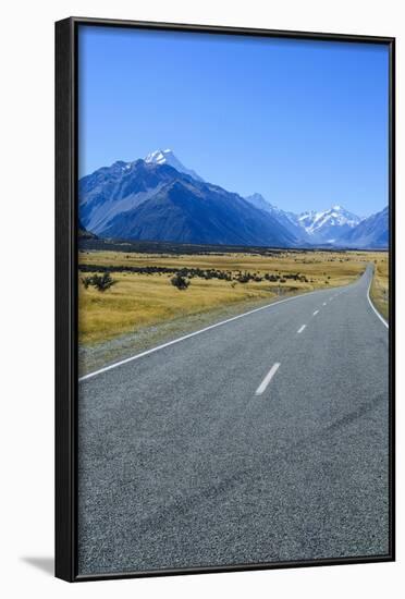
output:
POLYGON ((388 208, 367 219, 342 206, 295 215, 256 193, 204 181, 170 149, 116 161, 78 182, 81 229, 100 237, 272 247, 388 247, 388 208))

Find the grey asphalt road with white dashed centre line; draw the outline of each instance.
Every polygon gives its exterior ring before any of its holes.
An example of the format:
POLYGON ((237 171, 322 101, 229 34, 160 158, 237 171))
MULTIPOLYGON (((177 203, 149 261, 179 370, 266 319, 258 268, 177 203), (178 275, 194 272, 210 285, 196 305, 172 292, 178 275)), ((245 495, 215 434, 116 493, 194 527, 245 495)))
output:
POLYGON ((371 276, 81 381, 81 574, 389 552, 371 276))

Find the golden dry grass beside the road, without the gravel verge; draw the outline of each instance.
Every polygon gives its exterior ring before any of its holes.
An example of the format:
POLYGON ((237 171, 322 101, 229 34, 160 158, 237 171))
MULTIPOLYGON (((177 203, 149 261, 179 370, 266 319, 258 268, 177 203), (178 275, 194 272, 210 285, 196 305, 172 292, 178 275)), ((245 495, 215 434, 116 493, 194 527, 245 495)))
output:
MULTIPOLYGON (((377 260, 378 271, 376 303, 381 303, 384 256, 366 252, 280 252, 269 255, 81 252, 79 268, 90 269, 94 273, 98 268, 101 271, 109 267, 115 284, 100 292, 94 286, 85 289, 79 282, 79 343, 94 345, 171 320, 213 313, 224 306, 236 306, 242 311, 247 305, 275 301, 280 296, 344 285, 354 281, 372 260, 377 260), (167 271, 114 270, 146 267, 167 271), (198 273, 189 279, 188 289, 180 291, 171 284, 171 279, 174 270, 184 268, 204 273, 216 270, 226 279, 216 278, 217 274, 206 279, 198 273), (248 282, 238 282, 245 273, 249 274, 248 282)), ((79 272, 79 280, 85 276, 88 272, 79 272)))

